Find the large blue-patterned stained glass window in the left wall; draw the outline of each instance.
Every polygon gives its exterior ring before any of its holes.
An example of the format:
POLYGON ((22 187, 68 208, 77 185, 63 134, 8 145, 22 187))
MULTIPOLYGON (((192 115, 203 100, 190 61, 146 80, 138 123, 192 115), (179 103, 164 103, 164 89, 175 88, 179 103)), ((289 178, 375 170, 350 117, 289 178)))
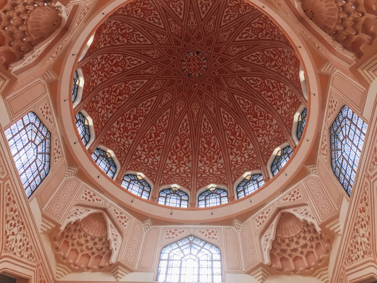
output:
POLYGON ((50 132, 34 112, 29 112, 6 129, 5 136, 30 197, 50 170, 50 132))

